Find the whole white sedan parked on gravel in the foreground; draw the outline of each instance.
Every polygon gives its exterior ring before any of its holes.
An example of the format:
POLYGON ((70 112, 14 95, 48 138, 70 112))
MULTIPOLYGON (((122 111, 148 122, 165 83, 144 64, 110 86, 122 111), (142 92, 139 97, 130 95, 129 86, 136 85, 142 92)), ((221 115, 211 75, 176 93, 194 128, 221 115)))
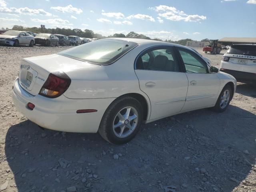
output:
POLYGON ((236 79, 178 44, 108 38, 22 59, 14 105, 41 127, 131 140, 142 123, 201 108, 223 112, 236 79))

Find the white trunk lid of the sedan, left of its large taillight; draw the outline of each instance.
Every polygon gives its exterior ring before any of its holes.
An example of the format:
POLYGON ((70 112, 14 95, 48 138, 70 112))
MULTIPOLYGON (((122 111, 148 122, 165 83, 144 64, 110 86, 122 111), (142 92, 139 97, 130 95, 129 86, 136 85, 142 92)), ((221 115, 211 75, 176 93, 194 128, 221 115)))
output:
MULTIPOLYGON (((24 58, 21 61, 19 83, 28 93, 37 95, 52 72, 99 67, 58 54, 24 58)), ((71 80, 72 83, 72 80, 71 80)))

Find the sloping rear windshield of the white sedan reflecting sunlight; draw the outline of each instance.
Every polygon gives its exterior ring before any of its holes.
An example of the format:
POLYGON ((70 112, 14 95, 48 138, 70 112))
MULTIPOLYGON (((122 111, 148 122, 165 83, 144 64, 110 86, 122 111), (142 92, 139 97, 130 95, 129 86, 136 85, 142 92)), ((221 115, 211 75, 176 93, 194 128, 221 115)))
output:
POLYGON ((117 39, 101 39, 64 50, 58 54, 95 64, 110 64, 138 44, 117 39))

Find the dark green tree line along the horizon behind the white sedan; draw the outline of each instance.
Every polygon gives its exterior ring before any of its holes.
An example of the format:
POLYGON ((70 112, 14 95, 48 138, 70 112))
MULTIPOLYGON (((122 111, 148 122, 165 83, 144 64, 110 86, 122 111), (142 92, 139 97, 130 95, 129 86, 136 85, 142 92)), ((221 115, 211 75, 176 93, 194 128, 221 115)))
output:
MULTIPOLYGON (((40 27, 24 27, 24 26, 19 26, 19 25, 14 25, 12 30, 18 30, 18 31, 30 31, 33 33, 40 33, 41 32, 41 28, 40 27)), ((192 39, 181 39, 178 41, 173 41, 173 40, 162 40, 159 38, 154 38, 151 39, 148 36, 145 36, 143 34, 138 34, 136 32, 129 32, 127 35, 122 34, 122 33, 116 33, 110 36, 102 36, 101 34, 98 33, 94 33, 92 30, 89 29, 85 29, 84 31, 81 29, 65 29, 65 28, 44 28, 43 29, 43 33, 50 33, 50 34, 63 34, 66 36, 70 36, 70 35, 74 35, 74 36, 79 36, 79 37, 84 37, 84 38, 110 38, 110 37, 121 37, 121 38, 139 38, 139 39, 149 39, 149 40, 157 40, 157 41, 164 41, 164 42, 170 42, 170 43, 176 43, 176 44, 180 44, 180 45, 186 45, 187 41, 194 41, 192 39)), ((203 39, 201 40, 202 42, 209 42, 208 39, 203 39)))

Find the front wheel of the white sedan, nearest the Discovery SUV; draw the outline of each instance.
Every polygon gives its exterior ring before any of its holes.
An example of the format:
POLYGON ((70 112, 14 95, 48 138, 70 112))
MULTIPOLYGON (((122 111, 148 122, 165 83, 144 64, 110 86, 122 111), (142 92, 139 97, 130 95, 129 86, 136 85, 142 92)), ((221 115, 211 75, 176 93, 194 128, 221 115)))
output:
POLYGON ((214 106, 214 110, 217 112, 224 112, 228 108, 232 96, 233 92, 231 87, 229 85, 224 86, 214 106))

